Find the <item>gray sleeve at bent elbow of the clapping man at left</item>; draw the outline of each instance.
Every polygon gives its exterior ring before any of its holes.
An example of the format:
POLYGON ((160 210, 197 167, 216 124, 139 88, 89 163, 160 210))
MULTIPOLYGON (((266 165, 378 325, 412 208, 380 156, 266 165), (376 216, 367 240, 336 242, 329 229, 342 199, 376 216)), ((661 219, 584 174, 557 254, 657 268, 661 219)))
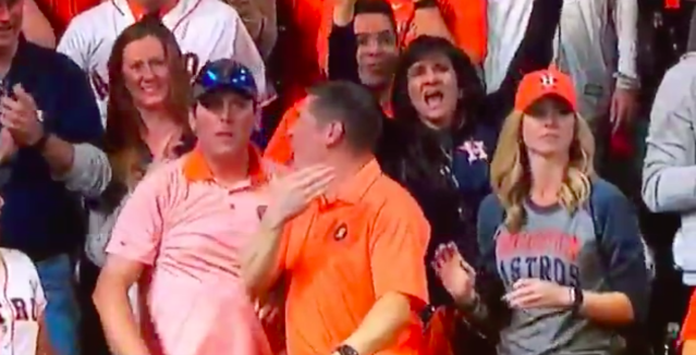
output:
POLYGON ((101 149, 90 144, 76 144, 73 147, 73 167, 65 175, 53 179, 63 181, 68 189, 86 198, 97 198, 111 181, 109 159, 101 149))

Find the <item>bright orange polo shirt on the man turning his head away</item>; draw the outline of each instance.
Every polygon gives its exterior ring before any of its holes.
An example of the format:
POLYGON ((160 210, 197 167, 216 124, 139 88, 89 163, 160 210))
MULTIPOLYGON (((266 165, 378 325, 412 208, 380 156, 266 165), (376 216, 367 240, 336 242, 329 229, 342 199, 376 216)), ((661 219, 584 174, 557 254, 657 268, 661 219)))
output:
POLYGON ((384 294, 407 295, 413 322, 379 355, 416 355, 428 302, 425 254, 430 225, 376 160, 320 198, 284 229, 280 271, 286 277, 288 354, 330 354, 384 294))

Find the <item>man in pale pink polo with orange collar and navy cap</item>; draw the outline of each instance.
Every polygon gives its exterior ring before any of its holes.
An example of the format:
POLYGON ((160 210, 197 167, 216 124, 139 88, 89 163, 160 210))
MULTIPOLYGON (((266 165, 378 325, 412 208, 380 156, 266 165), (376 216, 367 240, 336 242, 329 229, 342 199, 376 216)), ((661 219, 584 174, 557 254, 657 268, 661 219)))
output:
POLYGON ((94 301, 115 354, 270 354, 239 260, 267 206, 267 170, 249 143, 256 85, 221 60, 202 70, 194 96, 196 148, 145 176, 107 247, 94 301), (139 325, 127 298, 136 282, 139 325))

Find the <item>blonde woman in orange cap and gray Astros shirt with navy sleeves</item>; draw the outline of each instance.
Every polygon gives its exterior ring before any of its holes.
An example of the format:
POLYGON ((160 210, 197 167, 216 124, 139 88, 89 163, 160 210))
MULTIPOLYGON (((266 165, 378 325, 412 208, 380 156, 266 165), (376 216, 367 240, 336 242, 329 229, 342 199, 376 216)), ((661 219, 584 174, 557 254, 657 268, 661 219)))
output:
POLYGON ((649 277, 630 201, 595 176, 571 78, 527 74, 478 213, 481 265, 450 245, 434 268, 464 320, 501 355, 618 354, 645 317, 649 277))

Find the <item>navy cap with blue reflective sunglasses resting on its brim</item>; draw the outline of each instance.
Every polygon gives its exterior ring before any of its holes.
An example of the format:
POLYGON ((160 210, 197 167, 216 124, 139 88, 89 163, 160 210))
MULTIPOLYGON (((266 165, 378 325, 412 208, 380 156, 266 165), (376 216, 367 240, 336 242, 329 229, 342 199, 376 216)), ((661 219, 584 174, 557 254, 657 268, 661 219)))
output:
POLYGON ((258 97, 258 88, 252 71, 243 64, 220 59, 207 63, 196 76, 193 84, 194 99, 213 91, 232 91, 251 100, 258 97))

